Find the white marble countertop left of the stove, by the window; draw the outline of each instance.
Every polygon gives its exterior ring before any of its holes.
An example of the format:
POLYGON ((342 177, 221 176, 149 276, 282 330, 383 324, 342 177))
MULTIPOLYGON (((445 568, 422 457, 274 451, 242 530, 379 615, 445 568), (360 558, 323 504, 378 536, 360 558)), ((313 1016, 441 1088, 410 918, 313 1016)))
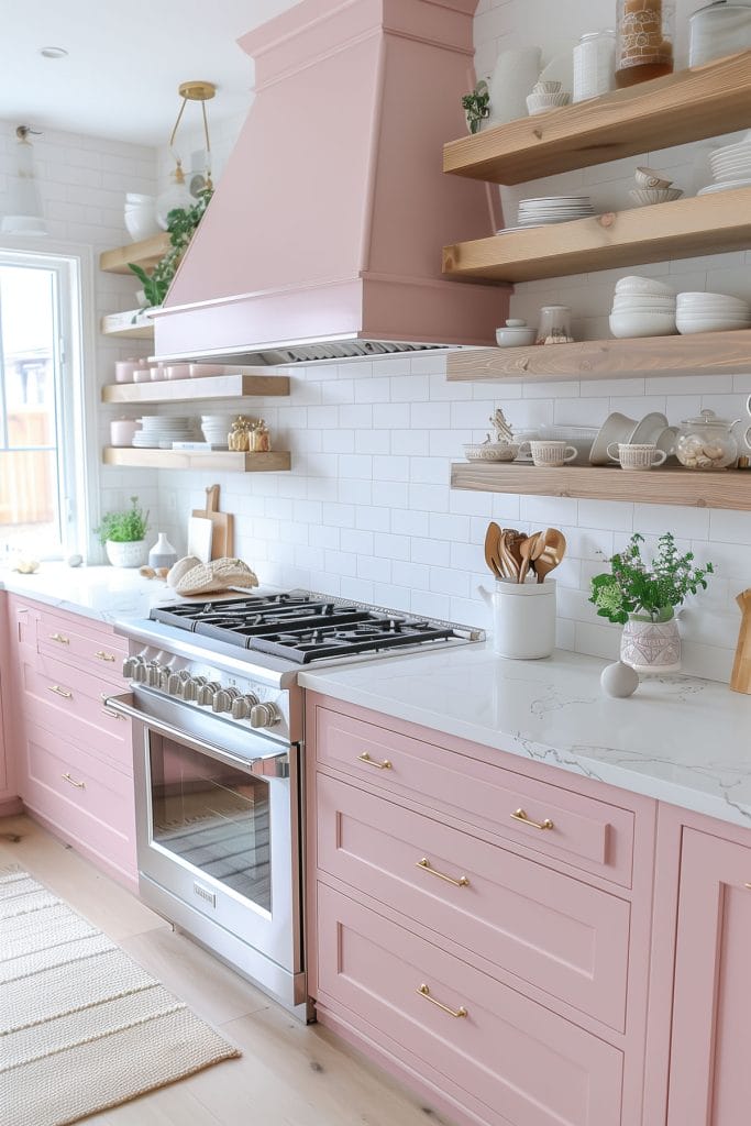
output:
POLYGON ((0 589, 110 625, 119 618, 147 618, 152 606, 178 599, 166 582, 144 579, 137 568, 65 563, 42 563, 36 574, 0 571, 0 589))

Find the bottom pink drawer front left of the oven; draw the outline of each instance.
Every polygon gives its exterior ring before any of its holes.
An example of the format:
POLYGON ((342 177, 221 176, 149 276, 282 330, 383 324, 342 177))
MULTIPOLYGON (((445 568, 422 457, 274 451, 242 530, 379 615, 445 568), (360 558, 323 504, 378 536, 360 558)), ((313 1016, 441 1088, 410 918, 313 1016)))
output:
POLYGON ((132 876, 133 780, 80 748, 29 725, 21 797, 69 840, 132 876))

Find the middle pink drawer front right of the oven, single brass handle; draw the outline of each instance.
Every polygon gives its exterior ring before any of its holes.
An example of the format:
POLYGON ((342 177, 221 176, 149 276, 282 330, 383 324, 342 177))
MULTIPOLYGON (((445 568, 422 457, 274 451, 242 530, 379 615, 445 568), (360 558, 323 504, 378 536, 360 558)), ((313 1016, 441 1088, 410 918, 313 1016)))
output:
POLYGON ((320 869, 623 1031, 628 903, 325 775, 316 785, 320 869))

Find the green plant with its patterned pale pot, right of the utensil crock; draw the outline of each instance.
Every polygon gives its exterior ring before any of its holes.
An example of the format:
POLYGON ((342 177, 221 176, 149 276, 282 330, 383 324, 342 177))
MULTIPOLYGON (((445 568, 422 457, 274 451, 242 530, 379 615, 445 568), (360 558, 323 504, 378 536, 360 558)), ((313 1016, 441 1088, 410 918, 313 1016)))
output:
POLYGON ((590 602, 601 618, 624 626, 620 660, 638 672, 680 669, 680 635, 676 607, 687 595, 706 590, 712 563, 698 566, 692 552, 680 555, 672 533, 658 539, 647 563, 642 558, 644 536, 631 537, 625 551, 608 560, 610 571, 592 579, 590 602))

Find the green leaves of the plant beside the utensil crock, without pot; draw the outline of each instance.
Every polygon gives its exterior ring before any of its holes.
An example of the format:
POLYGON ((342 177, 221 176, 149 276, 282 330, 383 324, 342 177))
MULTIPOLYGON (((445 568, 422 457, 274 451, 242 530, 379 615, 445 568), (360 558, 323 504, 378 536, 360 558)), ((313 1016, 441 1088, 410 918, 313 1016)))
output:
POLYGON ((642 558, 643 544, 644 536, 635 533, 625 551, 608 560, 610 573, 592 579, 589 600, 599 617, 622 625, 629 617, 637 622, 670 622, 687 595, 707 589, 707 575, 714 574, 712 563, 697 566, 692 552, 679 555, 670 531, 660 536, 649 563, 642 558))

